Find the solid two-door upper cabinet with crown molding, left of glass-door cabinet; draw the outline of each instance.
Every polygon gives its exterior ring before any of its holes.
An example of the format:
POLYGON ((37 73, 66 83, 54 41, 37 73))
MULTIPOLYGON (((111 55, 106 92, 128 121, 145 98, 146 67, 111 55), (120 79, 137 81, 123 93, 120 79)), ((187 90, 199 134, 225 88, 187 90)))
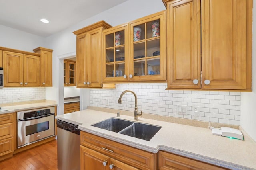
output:
POLYGON ((76 36, 76 86, 102 88, 102 31, 112 27, 100 21, 73 33, 76 36))

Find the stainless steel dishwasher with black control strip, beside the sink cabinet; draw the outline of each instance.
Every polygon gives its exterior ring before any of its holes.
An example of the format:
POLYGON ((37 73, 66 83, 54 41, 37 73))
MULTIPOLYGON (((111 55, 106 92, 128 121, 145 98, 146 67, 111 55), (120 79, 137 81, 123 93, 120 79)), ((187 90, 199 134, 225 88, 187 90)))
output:
POLYGON ((77 127, 57 120, 58 170, 80 170, 80 130, 77 127))

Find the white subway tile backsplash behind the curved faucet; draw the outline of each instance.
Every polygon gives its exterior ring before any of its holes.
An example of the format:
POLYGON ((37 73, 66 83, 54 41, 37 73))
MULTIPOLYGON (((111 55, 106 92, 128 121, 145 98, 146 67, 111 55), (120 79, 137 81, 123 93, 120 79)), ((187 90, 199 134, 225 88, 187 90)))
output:
POLYGON ((240 125, 240 92, 165 90, 166 88, 166 83, 128 83, 116 84, 116 89, 90 89, 90 106, 134 111, 134 96, 131 93, 124 94, 123 103, 118 104, 118 98, 124 90, 133 90, 138 97, 138 109, 144 113, 196 119, 192 106, 200 106, 201 121, 240 125), (110 99, 109 106, 105 105, 106 97, 110 99), (177 104, 187 106, 187 115, 176 113, 177 104))

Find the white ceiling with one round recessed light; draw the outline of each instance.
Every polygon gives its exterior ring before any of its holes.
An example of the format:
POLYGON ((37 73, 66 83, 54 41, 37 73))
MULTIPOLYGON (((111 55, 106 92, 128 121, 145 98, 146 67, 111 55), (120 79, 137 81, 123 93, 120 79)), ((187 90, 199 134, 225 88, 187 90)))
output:
POLYGON ((47 37, 125 1, 0 0, 0 25, 47 37))

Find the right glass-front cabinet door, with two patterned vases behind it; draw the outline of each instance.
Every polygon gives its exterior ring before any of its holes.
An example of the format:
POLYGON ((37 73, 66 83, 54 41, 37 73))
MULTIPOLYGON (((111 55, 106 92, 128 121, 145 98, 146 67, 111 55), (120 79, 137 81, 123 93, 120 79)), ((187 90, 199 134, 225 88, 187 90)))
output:
POLYGON ((165 11, 130 23, 130 81, 166 80, 165 11))

